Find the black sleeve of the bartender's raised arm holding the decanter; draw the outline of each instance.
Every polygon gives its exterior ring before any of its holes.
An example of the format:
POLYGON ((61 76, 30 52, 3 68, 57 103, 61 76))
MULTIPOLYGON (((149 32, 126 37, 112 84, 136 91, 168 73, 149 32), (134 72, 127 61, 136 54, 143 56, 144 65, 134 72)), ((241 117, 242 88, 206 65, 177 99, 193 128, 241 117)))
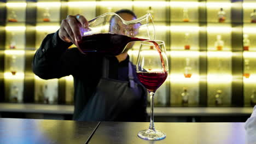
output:
POLYGON ((58 32, 48 34, 33 57, 33 72, 42 79, 60 78, 75 70, 78 50, 68 49, 72 43, 61 40, 58 32))

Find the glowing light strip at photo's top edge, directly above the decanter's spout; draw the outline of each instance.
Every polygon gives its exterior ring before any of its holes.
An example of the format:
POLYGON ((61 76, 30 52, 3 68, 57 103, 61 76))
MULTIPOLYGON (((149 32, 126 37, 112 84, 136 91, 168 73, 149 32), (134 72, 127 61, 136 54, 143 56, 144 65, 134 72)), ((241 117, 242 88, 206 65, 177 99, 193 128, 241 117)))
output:
POLYGON ((130 3, 139 7, 166 7, 168 5, 168 2, 165 1, 133 1, 130 3))

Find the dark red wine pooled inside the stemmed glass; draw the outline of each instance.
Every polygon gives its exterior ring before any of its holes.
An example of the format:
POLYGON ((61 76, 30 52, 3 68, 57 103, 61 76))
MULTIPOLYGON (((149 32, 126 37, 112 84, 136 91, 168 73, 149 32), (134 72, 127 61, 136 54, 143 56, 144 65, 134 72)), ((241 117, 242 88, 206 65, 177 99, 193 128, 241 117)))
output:
POLYGON ((164 72, 137 72, 137 77, 149 92, 155 92, 165 82, 168 73, 164 72))

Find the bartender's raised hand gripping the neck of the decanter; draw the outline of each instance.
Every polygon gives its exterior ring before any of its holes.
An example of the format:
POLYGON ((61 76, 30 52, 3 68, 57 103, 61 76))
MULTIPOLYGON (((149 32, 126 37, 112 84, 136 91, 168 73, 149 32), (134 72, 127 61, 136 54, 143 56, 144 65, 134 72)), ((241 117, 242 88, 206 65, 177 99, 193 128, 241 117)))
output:
POLYGON ((88 28, 88 21, 83 15, 68 15, 66 19, 62 20, 59 29, 59 37, 63 41, 76 44, 82 39, 79 27, 88 28))

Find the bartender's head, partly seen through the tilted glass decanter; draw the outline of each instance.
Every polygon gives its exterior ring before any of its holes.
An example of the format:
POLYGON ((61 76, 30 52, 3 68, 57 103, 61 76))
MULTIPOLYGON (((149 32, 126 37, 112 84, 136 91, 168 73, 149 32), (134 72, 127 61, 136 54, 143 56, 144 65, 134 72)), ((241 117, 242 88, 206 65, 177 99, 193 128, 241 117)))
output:
MULTIPOLYGON (((129 9, 121 9, 115 12, 118 14, 123 20, 125 21, 131 21, 137 19, 136 15, 129 9)), ((121 35, 127 35, 129 37, 135 37, 137 34, 137 25, 124 25, 122 21, 118 20, 119 17, 115 16, 112 17, 110 20, 110 32, 117 33, 121 35)), ((126 46, 126 49, 124 52, 127 52, 131 47, 133 46, 132 43, 129 43, 126 46)))

